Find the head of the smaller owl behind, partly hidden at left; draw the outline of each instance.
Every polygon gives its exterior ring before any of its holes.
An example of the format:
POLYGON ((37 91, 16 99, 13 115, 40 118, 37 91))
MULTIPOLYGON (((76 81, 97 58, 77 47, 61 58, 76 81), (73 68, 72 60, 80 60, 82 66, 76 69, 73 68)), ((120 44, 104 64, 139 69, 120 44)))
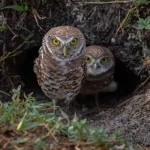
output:
POLYGON ((103 75, 112 72, 115 61, 109 49, 102 46, 85 48, 87 80, 99 80, 103 75))

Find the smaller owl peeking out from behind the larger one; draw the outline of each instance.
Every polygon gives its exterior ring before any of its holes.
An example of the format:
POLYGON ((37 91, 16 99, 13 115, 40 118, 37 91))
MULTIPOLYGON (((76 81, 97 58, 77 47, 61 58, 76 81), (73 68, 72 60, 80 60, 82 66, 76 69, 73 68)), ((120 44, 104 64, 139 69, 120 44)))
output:
POLYGON ((109 49, 96 45, 88 46, 85 48, 85 56, 86 81, 81 93, 89 95, 116 91, 115 60, 109 49))

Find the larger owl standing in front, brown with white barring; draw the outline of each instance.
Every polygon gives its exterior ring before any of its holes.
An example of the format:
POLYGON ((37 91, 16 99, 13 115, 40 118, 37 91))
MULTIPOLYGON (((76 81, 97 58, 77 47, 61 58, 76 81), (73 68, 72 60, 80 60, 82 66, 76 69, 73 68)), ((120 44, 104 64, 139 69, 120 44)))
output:
POLYGON ((44 94, 69 103, 80 92, 85 73, 85 39, 72 26, 50 29, 43 38, 34 72, 44 94))

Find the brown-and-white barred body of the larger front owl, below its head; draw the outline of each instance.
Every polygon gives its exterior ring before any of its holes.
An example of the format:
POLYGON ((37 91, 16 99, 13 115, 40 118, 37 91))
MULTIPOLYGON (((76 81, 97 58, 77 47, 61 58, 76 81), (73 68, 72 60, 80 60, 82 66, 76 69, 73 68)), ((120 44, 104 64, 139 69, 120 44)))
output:
POLYGON ((41 48, 34 72, 46 96, 53 100, 71 101, 80 92, 84 68, 83 56, 69 62, 59 62, 43 53, 41 48))

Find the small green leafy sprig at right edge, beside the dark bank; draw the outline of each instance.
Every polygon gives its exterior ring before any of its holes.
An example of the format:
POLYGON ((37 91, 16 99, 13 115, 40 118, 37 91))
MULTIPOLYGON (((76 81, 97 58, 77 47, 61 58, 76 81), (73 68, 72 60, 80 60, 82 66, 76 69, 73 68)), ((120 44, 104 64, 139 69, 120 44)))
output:
POLYGON ((146 19, 143 19, 143 18, 139 19, 137 29, 150 30, 150 16, 148 16, 146 19))

